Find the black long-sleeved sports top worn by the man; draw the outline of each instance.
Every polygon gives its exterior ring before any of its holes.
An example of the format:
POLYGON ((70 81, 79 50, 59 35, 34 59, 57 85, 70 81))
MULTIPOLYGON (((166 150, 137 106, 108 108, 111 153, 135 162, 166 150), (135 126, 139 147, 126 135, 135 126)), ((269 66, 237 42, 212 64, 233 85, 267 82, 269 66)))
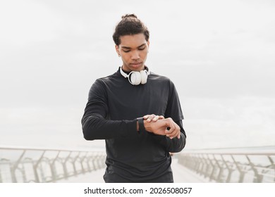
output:
POLYGON ((119 70, 90 89, 82 131, 85 139, 105 139, 105 182, 173 182, 171 156, 185 146, 183 113, 173 82, 151 72, 146 84, 134 86, 119 70), (181 138, 137 132, 137 117, 171 117, 181 138))

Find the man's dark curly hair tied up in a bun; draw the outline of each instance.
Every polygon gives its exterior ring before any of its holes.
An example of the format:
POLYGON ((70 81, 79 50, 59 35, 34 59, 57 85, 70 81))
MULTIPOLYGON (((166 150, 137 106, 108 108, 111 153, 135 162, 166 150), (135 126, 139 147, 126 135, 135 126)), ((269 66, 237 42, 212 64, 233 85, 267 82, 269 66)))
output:
POLYGON ((144 34, 146 41, 149 40, 149 30, 135 14, 126 14, 121 18, 113 34, 114 43, 117 46, 121 44, 120 37, 125 35, 144 34))

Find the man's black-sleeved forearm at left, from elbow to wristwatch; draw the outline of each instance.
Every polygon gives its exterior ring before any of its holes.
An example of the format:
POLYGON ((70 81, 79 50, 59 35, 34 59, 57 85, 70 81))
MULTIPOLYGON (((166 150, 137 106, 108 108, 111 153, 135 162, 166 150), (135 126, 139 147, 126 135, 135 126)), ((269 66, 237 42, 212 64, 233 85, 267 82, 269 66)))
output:
POLYGON ((136 120, 106 120, 99 114, 91 114, 83 116, 81 122, 86 140, 138 135, 136 120))

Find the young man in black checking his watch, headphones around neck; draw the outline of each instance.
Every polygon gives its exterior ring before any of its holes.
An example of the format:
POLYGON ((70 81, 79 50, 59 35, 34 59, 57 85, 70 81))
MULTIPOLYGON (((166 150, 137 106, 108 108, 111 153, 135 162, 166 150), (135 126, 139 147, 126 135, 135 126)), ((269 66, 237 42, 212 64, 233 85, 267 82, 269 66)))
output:
POLYGON ((105 182, 173 182, 171 155, 185 146, 176 88, 145 65, 149 31, 124 15, 113 35, 123 65, 90 89, 82 131, 105 139, 105 182))

